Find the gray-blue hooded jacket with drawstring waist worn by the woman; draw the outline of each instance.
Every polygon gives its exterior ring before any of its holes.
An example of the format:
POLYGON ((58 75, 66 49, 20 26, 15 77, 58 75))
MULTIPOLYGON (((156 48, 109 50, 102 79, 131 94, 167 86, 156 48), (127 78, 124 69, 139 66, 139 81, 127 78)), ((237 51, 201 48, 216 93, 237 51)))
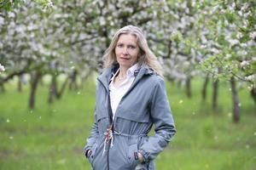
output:
POLYGON ((137 152, 146 161, 141 169, 154 170, 154 158, 176 133, 164 80, 146 67, 140 69, 115 112, 113 147, 108 144, 103 154, 104 133, 109 127, 108 83, 112 75, 113 68, 109 68, 98 77, 95 122, 84 152, 92 150, 88 159, 94 170, 133 170, 139 163, 137 152), (155 134, 148 136, 153 124, 155 134))

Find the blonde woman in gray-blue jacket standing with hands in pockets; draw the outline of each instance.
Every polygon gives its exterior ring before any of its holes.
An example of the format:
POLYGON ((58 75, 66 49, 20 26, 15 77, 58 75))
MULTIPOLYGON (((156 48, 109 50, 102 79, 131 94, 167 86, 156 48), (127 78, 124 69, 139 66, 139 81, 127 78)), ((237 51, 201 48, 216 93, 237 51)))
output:
POLYGON ((160 64, 136 26, 116 32, 104 59, 84 154, 95 170, 153 170, 176 133, 160 64))

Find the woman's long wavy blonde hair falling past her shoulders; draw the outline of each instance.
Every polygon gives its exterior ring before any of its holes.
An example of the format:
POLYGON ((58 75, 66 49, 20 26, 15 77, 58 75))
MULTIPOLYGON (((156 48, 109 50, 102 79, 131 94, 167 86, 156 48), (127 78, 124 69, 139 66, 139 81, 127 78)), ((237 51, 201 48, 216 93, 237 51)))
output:
POLYGON ((152 69, 162 77, 162 67, 158 62, 157 58, 155 57, 154 53, 150 50, 150 48, 148 48, 148 42, 146 40, 146 37, 143 35, 143 31, 137 26, 125 26, 115 33, 108 49, 105 51, 105 54, 103 55, 104 67, 108 68, 111 67, 113 64, 117 63, 114 49, 121 34, 131 34, 137 37, 137 44, 140 48, 137 61, 138 65, 148 66, 150 69, 152 69))

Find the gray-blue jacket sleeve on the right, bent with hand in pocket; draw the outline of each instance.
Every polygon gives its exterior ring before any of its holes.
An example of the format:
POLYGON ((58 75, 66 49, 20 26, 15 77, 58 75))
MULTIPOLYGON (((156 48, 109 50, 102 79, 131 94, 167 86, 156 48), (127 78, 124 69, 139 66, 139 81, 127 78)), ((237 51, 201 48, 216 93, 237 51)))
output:
POLYGON ((149 109, 155 134, 144 140, 143 145, 138 150, 143 154, 145 161, 153 160, 166 148, 176 133, 172 111, 166 95, 165 82, 162 78, 157 79, 149 109))

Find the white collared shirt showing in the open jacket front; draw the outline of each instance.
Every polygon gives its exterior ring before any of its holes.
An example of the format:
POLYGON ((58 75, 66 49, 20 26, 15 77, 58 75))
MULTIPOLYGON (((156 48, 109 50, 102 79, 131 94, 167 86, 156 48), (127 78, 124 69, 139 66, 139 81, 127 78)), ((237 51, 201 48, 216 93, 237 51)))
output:
POLYGON ((113 85, 113 80, 118 75, 119 70, 116 71, 116 73, 111 78, 111 82, 109 84, 109 91, 110 91, 110 105, 112 108, 113 117, 115 116, 115 111, 117 110, 121 99, 126 94, 128 89, 131 87, 131 84, 135 79, 134 71, 137 71, 137 70, 138 70, 138 64, 132 65, 126 71, 126 79, 123 82, 121 82, 118 87, 115 87, 113 85))

